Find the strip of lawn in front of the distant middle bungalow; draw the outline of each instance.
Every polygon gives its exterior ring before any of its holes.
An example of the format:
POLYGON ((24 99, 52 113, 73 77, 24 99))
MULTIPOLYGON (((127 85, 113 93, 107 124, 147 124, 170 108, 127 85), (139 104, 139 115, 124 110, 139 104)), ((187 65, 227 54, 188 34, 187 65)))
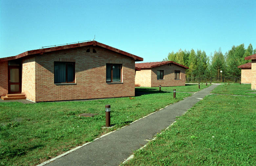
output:
MULTIPOLYGON (((173 92, 174 89, 176 89, 176 92, 198 92, 204 88, 207 88, 211 86, 208 84, 200 84, 200 89, 198 88, 197 85, 192 85, 192 84, 186 84, 186 86, 175 86, 175 87, 161 87, 161 91, 166 91, 166 92, 173 92)), ((136 87, 136 91, 140 92, 148 92, 148 93, 159 93, 159 87, 136 87)))

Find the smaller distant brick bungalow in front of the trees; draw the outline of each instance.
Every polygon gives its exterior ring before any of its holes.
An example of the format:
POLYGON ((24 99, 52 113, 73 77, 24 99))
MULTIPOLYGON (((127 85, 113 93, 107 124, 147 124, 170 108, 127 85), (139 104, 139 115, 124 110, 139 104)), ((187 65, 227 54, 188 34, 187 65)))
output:
POLYGON ((143 87, 185 86, 185 70, 189 69, 173 61, 136 63, 135 84, 143 87))

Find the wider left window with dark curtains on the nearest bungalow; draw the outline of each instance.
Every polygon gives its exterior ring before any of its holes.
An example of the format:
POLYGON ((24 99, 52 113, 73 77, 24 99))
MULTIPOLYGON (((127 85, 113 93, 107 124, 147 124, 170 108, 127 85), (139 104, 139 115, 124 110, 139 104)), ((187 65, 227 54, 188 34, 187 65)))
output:
POLYGON ((75 62, 54 62, 54 83, 75 83, 75 62))

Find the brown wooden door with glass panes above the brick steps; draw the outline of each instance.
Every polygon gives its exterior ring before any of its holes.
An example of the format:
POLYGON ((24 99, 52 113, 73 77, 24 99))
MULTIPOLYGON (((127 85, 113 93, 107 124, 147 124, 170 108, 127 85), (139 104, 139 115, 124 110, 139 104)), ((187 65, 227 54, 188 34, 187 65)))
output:
POLYGON ((8 66, 8 93, 21 93, 20 66, 8 66))

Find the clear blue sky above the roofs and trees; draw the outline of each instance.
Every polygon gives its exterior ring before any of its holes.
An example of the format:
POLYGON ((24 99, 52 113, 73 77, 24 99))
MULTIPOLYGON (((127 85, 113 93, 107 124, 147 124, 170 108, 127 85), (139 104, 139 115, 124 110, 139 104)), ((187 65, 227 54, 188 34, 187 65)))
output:
POLYGON ((256 48, 256 1, 0 1, 0 58, 92 40, 161 61, 179 49, 256 48))

